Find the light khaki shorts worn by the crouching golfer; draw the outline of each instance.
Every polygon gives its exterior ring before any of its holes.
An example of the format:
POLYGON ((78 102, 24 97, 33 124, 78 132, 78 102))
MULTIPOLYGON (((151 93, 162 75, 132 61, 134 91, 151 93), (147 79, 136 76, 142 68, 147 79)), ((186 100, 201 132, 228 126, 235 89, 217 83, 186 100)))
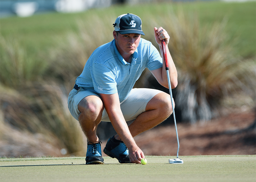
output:
MULTIPOLYGON (((120 107, 124 115, 124 119, 126 121, 136 119, 138 115, 146 111, 147 103, 155 95, 161 92, 162 91, 159 91, 156 89, 146 89, 146 88, 132 89, 129 96, 122 103, 120 103, 120 107)), ((73 89, 69 93, 69 98, 68 98, 69 111, 76 120, 78 120, 78 116, 80 114, 78 110, 79 102, 83 98, 90 95, 95 95, 99 97, 99 95, 97 95, 96 93, 91 91, 85 91, 83 88, 79 88, 78 91, 76 89, 73 89)), ((102 112, 102 121, 110 122, 105 109, 102 112)))

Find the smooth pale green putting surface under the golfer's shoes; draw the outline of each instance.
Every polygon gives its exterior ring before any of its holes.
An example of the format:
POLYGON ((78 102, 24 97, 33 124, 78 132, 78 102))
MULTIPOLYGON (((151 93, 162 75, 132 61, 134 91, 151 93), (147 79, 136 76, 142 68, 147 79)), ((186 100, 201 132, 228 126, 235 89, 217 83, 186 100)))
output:
POLYGON ((85 165, 85 157, 0 159, 0 181, 256 181, 256 155, 146 156, 147 165, 85 165))

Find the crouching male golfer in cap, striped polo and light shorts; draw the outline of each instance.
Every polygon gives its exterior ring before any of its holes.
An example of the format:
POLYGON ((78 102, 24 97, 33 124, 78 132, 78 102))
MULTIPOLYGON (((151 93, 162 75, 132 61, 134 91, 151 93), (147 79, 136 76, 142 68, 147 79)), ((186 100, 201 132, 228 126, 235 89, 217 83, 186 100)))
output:
MULTIPOLYGON (((87 137, 86 164, 104 164, 96 135, 101 121, 111 122, 117 132, 107 141, 104 153, 119 163, 140 164, 144 154, 133 137, 172 114, 169 94, 156 89, 133 89, 145 68, 159 84, 169 88, 161 44, 162 39, 168 44, 168 33, 162 27, 154 28, 161 56, 151 42, 141 38, 145 34, 138 16, 123 14, 113 25, 114 40, 92 53, 68 98, 69 110, 87 137), (134 121, 127 126, 129 120, 134 121)), ((175 88, 177 70, 167 46, 166 49, 171 85, 175 88)))

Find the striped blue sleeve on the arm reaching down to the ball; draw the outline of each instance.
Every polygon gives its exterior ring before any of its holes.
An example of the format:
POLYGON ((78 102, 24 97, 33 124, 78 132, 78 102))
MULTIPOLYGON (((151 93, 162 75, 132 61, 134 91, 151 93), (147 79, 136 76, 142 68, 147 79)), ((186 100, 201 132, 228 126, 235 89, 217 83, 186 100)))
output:
POLYGON ((91 68, 92 83, 97 93, 117 93, 117 83, 114 73, 102 64, 94 63, 91 68))

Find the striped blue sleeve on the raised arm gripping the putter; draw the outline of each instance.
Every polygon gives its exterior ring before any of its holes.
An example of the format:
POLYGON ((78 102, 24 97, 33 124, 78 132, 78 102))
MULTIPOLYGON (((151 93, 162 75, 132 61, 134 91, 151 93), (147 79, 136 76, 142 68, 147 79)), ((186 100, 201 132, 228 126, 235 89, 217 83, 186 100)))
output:
POLYGON ((149 44, 149 60, 147 62, 147 68, 149 71, 161 68, 163 66, 163 59, 159 54, 157 48, 152 45, 150 42, 149 44))

